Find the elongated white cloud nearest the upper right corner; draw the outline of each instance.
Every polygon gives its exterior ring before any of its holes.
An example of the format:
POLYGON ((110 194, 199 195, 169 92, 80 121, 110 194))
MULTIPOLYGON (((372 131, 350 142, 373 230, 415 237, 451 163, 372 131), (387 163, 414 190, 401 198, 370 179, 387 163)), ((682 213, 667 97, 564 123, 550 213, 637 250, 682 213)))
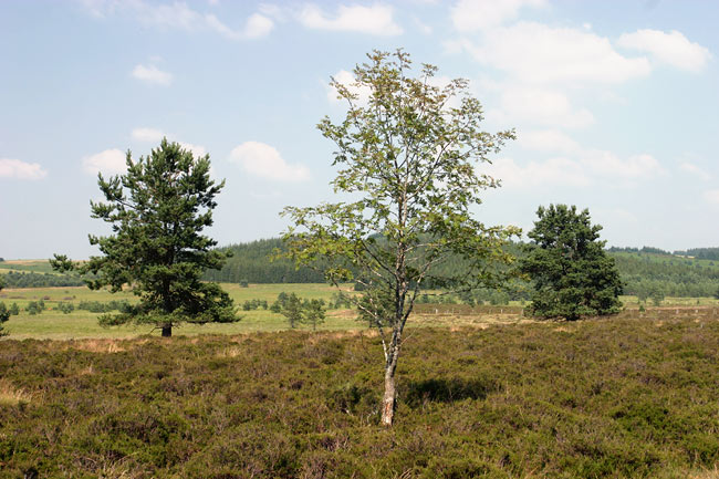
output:
POLYGON ((659 62, 680 70, 700 72, 711 59, 711 53, 699 43, 690 42, 684 34, 673 30, 637 30, 624 33, 617 45, 650 53, 659 62))

